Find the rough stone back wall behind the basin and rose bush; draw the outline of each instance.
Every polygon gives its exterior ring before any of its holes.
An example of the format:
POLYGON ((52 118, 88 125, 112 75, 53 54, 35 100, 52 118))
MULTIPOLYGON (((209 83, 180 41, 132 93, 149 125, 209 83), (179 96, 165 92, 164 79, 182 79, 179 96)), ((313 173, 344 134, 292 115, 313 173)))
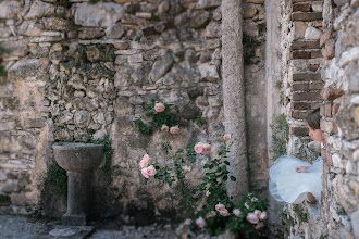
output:
MULTIPOLYGON (((180 135, 168 136, 173 151, 197 141, 219 147, 225 93, 221 1, 90 2, 0 3, 7 68, 0 81, 0 193, 8 212, 61 215, 64 201, 51 197, 51 185, 45 184, 54 161, 51 144, 107 135, 114 150, 111 173, 95 172, 94 213, 176 209, 174 191, 144 178, 138 166, 145 153, 162 165, 172 163, 164 160, 162 135, 140 135, 134 123, 147 121, 151 99, 169 103, 178 114, 180 135)), ((248 0, 244 7, 247 125, 253 129, 248 135, 249 162, 256 191, 267 187, 265 174, 257 171, 267 169, 263 3, 248 0)), ((201 178, 209 158, 197 160, 186 173, 193 183, 201 178)))

